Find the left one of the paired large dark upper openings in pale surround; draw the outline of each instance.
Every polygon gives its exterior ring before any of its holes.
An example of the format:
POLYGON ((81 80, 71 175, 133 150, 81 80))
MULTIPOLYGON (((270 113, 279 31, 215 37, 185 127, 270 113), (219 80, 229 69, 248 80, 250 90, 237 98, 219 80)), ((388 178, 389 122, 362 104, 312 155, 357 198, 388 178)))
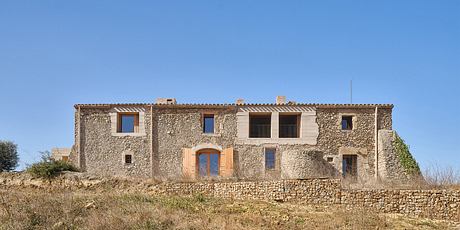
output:
POLYGON ((249 114, 249 137, 271 137, 271 114, 249 114))

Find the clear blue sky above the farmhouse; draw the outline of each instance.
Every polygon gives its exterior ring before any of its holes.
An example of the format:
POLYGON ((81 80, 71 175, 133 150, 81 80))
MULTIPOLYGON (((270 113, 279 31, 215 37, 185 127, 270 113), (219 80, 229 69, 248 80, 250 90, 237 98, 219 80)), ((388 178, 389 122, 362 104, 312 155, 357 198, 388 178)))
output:
POLYGON ((0 2, 0 139, 73 144, 75 103, 393 103, 422 167, 460 169, 460 1, 0 2))

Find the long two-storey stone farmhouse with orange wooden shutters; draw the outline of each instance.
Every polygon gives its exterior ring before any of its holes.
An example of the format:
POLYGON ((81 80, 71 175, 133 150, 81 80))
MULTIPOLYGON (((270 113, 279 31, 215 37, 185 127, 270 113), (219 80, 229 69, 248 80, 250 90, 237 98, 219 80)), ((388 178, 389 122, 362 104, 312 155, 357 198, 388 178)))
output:
POLYGON ((405 177, 391 104, 76 104, 70 161, 158 180, 405 177))

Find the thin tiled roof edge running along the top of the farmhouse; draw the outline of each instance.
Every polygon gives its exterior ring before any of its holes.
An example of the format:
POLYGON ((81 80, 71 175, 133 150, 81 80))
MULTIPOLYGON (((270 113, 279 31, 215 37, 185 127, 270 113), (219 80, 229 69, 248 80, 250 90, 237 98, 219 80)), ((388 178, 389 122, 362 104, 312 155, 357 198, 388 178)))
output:
POLYGON ((244 106, 311 106, 316 108, 393 108, 393 104, 322 104, 322 103, 245 103, 245 104, 157 104, 157 103, 114 103, 114 104, 76 104, 75 108, 104 108, 116 106, 154 106, 163 108, 210 108, 210 107, 244 107, 244 106))

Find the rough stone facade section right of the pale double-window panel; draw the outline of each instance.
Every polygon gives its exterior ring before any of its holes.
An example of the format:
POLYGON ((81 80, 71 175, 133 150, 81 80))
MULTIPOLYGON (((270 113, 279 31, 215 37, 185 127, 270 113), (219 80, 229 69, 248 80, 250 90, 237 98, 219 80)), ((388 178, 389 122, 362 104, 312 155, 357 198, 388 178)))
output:
MULTIPOLYGON (((378 110, 379 129, 392 129, 392 109, 378 110)), ((346 154, 358 155, 358 177, 362 181, 369 180, 375 173, 375 109, 334 109, 319 108, 317 110, 319 136, 317 148, 326 157, 334 159, 333 165, 342 172, 341 148, 346 154), (353 130, 342 130, 342 115, 352 115, 353 130), (361 166, 361 167, 360 167, 361 166)))

